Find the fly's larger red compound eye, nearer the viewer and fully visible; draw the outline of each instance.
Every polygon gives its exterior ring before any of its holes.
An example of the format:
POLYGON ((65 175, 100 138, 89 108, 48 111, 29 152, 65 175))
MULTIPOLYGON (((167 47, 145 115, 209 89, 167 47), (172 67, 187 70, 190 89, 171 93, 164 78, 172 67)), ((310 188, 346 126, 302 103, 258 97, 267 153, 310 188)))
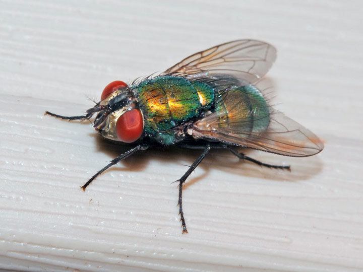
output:
POLYGON ((118 117, 116 133, 120 141, 133 143, 141 137, 144 119, 139 109, 132 109, 118 117))

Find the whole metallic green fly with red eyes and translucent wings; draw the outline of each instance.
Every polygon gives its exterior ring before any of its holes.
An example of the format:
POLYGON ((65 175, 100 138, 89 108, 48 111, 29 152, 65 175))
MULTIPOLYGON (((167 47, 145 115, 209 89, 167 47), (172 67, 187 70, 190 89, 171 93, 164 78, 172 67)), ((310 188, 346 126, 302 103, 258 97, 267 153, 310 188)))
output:
POLYGON ((100 102, 80 116, 45 113, 66 120, 90 119, 106 139, 133 144, 93 175, 136 152, 156 145, 201 149, 201 155, 178 182, 183 233, 188 232, 182 206, 183 183, 211 149, 226 149, 260 166, 290 169, 250 158, 237 148, 251 148, 292 157, 323 150, 310 130, 273 109, 259 87, 276 59, 276 49, 262 41, 236 40, 195 53, 158 76, 131 84, 108 84, 100 102))

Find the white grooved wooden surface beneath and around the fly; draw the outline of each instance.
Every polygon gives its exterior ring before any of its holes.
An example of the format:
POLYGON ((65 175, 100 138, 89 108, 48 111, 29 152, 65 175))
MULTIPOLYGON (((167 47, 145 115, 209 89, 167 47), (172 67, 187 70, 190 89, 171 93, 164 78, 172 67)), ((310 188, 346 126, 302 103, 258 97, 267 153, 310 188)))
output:
POLYGON ((27 271, 363 270, 362 2, 0 0, 0 268, 27 271), (209 46, 274 44, 275 102, 324 139, 315 157, 146 151, 79 188, 122 148, 80 114, 113 80, 209 46), (78 269, 78 270, 77 270, 78 269))

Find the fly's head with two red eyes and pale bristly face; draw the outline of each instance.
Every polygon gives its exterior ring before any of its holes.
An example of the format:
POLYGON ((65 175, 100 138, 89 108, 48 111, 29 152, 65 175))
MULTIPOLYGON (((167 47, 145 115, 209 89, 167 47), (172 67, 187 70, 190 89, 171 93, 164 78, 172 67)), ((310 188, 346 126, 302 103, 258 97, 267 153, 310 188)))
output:
POLYGON ((97 113, 94 128, 107 139, 133 143, 144 130, 144 117, 138 108, 134 93, 123 81, 108 84, 101 95, 101 101, 87 113, 97 113))

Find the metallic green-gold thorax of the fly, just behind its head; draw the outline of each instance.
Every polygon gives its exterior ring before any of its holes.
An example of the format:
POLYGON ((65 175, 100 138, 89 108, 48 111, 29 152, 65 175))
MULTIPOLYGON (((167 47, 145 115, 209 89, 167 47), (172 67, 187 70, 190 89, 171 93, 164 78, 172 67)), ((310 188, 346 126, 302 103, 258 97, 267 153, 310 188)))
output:
POLYGON ((173 141, 173 133, 168 130, 198 116, 214 100, 212 87, 181 77, 161 76, 145 80, 136 90, 139 106, 145 115, 146 132, 161 137, 160 142, 164 144, 173 141))

